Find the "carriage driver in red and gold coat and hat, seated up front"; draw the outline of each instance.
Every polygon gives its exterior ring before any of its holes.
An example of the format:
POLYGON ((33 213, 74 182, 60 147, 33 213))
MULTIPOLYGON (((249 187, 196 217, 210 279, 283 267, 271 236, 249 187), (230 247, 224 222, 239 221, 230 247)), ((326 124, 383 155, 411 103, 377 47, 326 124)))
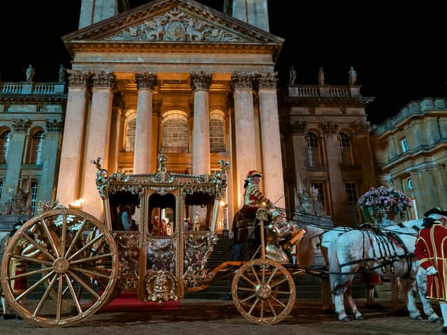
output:
POLYGON ((274 208, 273 203, 265 197, 259 188, 259 181, 263 174, 256 170, 250 170, 244 181, 244 204, 235 214, 233 219, 233 246, 231 253, 233 260, 241 260, 244 254, 244 246, 249 242, 249 255, 253 255, 261 241, 261 232, 257 225, 256 212, 259 208, 268 206, 274 208), (254 224, 254 234, 249 233, 248 222, 254 224))

